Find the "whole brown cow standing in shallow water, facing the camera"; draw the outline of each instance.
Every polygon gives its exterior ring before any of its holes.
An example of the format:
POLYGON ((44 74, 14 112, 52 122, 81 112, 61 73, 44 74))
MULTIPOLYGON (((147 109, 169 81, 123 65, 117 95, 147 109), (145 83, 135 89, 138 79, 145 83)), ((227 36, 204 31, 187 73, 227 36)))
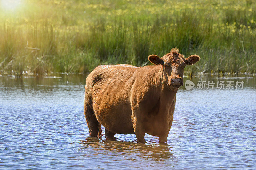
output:
POLYGON ((148 56, 155 66, 100 65, 86 78, 84 115, 92 137, 102 134, 134 134, 145 143, 145 133, 167 141, 172 126, 176 93, 183 85, 186 65, 198 55, 184 58, 177 48, 159 58, 148 56))

